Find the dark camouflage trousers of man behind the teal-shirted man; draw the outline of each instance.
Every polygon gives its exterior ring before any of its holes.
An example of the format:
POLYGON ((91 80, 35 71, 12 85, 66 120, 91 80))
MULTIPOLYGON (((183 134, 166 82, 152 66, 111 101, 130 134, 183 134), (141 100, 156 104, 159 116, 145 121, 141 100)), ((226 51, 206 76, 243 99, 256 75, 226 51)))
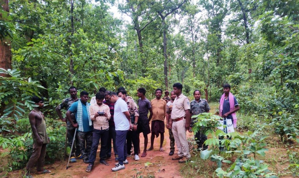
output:
MULTIPOLYGON (((76 121, 74 121, 74 122, 77 123, 76 121)), ((68 130, 68 133, 67 133, 68 146, 71 148, 76 128, 73 127, 73 125, 68 121, 67 122, 67 130, 68 130)), ((79 139, 78 139, 78 132, 77 132, 71 156, 79 156, 80 154, 81 154, 81 151, 80 151, 80 142, 79 142, 79 139)))

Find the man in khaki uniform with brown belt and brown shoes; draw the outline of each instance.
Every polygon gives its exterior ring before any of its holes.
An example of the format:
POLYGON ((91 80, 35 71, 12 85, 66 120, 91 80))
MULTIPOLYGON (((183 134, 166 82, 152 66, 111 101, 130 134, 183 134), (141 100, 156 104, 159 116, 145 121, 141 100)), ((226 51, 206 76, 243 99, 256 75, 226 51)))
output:
POLYGON ((183 85, 181 83, 173 84, 173 92, 176 99, 173 101, 173 109, 169 128, 172 133, 176 145, 178 147, 178 155, 172 160, 179 160, 180 163, 187 162, 190 159, 189 145, 186 138, 186 130, 190 127, 190 101, 182 94, 183 85))

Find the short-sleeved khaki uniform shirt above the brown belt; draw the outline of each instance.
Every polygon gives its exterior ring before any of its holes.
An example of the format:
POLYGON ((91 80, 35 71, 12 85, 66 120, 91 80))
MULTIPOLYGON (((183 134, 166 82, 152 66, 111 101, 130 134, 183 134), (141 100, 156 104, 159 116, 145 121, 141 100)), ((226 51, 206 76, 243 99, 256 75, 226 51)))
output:
POLYGON ((186 110, 190 109, 189 98, 183 94, 179 95, 173 101, 171 119, 186 117, 186 110))

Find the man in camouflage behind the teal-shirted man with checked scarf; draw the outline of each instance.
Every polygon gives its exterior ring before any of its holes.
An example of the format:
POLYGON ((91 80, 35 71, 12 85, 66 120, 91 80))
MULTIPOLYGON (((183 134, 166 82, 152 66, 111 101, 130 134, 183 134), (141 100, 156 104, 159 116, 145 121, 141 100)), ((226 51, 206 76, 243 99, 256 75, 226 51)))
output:
MULTIPOLYGON (((57 115, 59 116, 59 118, 63 121, 66 122, 67 125, 67 137, 68 137, 68 146, 71 147, 72 143, 73 143, 73 139, 74 139, 74 134, 75 134, 75 130, 76 128, 72 126, 72 124, 67 121, 66 118, 62 117, 62 113, 61 113, 61 109, 65 109, 68 110, 68 108, 71 107, 71 105, 78 101, 79 99, 77 98, 77 89, 74 86, 71 86, 68 89, 68 92, 70 93, 71 97, 70 98, 65 98, 61 104, 59 104, 56 107, 56 112, 57 115)), ((73 120, 74 123, 77 123, 76 118, 74 113, 71 114, 71 118, 73 120)), ((76 133, 76 138, 75 138, 75 147, 72 150, 71 153, 71 162, 76 162, 76 158, 79 158, 81 156, 81 152, 80 152, 80 144, 79 144, 79 139, 78 139, 78 132, 76 133)))

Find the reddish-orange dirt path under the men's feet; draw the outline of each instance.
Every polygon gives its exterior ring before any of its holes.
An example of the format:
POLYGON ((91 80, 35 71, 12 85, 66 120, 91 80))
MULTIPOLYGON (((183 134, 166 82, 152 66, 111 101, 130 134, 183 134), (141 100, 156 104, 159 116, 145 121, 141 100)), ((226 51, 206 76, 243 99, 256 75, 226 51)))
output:
MULTIPOLYGON (((192 134, 188 133, 188 137, 192 136, 192 134)), ((150 135, 148 146, 150 145, 150 135)), ((142 134, 140 135, 140 150, 142 151, 144 148, 144 138, 142 134)), ((100 165, 98 162, 100 161, 100 158, 98 157, 99 151, 97 152, 97 159, 95 161, 95 165, 93 170, 88 173, 85 171, 86 166, 88 164, 84 164, 82 160, 79 160, 79 162, 76 163, 70 163, 71 167, 68 168, 68 170, 65 170, 66 162, 56 162, 52 165, 46 165, 45 168, 49 168, 51 170, 50 174, 44 174, 44 175, 36 175, 33 173, 33 177, 35 178, 104 178, 104 177, 111 177, 111 178, 137 178, 139 175, 144 175, 147 177, 153 177, 156 178, 182 178, 180 174, 180 168, 182 166, 181 163, 178 161, 171 160, 172 157, 176 156, 174 154, 173 156, 169 156, 168 153, 170 151, 170 140, 169 140, 169 133, 168 130, 165 129, 164 133, 164 142, 163 142, 163 148, 164 152, 159 151, 159 145, 160 145, 160 137, 155 138, 154 142, 154 150, 148 151, 146 157, 141 157, 140 160, 135 161, 134 156, 128 157, 129 164, 125 165, 126 168, 113 172, 111 171, 111 168, 114 167, 114 164, 116 163, 114 161, 114 156, 112 156, 111 159, 108 159, 107 162, 110 164, 109 166, 100 165), (144 163, 147 163, 147 168, 145 167, 144 163)), ((177 153, 177 149, 175 150, 175 153, 177 153)), ((9 177, 19 177, 19 172, 14 172, 9 177)))

